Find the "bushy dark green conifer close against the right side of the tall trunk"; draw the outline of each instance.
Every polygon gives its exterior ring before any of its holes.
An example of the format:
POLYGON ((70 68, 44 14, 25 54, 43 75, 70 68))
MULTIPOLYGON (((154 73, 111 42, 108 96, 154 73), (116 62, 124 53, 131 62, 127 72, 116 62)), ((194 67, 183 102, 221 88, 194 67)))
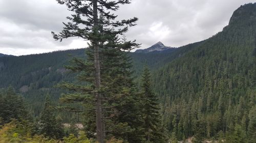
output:
POLYGON ((109 55, 104 60, 108 62, 102 64, 105 67, 103 75, 108 75, 104 76, 102 83, 109 88, 104 92, 104 97, 109 100, 105 104, 114 107, 112 110, 105 110, 105 114, 110 117, 104 120, 106 128, 113 131, 109 135, 121 137, 128 142, 142 142, 141 99, 133 82, 131 58, 119 49, 105 52, 109 55))

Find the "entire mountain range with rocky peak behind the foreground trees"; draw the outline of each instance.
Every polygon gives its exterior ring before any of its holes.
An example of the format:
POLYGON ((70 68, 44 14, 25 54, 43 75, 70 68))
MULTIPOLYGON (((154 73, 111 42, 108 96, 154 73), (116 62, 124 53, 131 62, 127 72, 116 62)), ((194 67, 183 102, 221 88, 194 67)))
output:
MULTIPOLYGON (((246 134, 249 125, 254 125, 250 113, 256 105, 256 3, 238 8, 223 31, 206 40, 165 47, 158 42, 129 55, 139 84, 143 65, 150 67, 169 132, 178 140, 222 134, 236 138, 232 135, 238 129, 246 134)), ((63 68, 69 64, 69 54, 86 58, 84 49, 1 57, 0 88, 13 85, 38 116, 46 94, 57 104, 65 92, 54 88, 57 83, 76 80, 75 74, 63 68)), ((66 122, 72 115, 62 113, 62 117, 66 122)))

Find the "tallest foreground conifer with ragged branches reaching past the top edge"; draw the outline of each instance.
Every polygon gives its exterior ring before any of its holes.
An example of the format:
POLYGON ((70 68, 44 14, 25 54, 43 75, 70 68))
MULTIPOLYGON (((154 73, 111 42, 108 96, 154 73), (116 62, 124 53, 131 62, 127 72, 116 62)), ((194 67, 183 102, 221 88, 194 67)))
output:
MULTIPOLYGON (((65 27, 62 32, 59 34, 52 32, 53 38, 62 41, 62 39, 69 37, 80 37, 90 41, 90 43, 88 43, 90 49, 87 51, 87 61, 74 58, 73 62, 75 63, 75 66, 67 67, 72 71, 80 72, 78 80, 84 83, 82 85, 72 83, 63 83, 61 85, 71 91, 79 92, 79 94, 72 93, 66 95, 65 98, 62 98, 62 101, 68 103, 82 102, 83 104, 94 104, 87 105, 87 107, 92 107, 91 109, 87 109, 87 111, 95 111, 95 114, 91 114, 91 117, 94 117, 95 115, 97 141, 102 143, 104 142, 106 131, 108 131, 106 129, 108 128, 108 125, 110 125, 111 128, 114 126, 114 131, 117 131, 117 126, 126 128, 125 130, 131 130, 130 127, 125 127, 128 125, 126 122, 119 123, 119 121, 112 120, 112 122, 106 123, 109 121, 104 121, 104 119, 114 118, 115 115, 120 114, 120 111, 118 111, 119 108, 116 107, 122 102, 120 102, 120 99, 116 98, 127 96, 125 93, 122 93, 125 87, 121 87, 121 85, 117 85, 117 88, 119 88, 118 91, 111 91, 110 88, 113 87, 110 85, 113 85, 113 83, 116 84, 115 82, 117 82, 117 80, 120 81, 118 70, 119 68, 121 69, 121 67, 118 67, 119 65, 114 65, 114 68, 116 69, 113 69, 113 67, 109 67, 109 64, 113 65, 113 63, 108 63, 109 61, 105 61, 104 59, 109 59, 110 56, 118 58, 119 55, 115 55, 115 53, 109 51, 115 51, 117 49, 117 51, 120 52, 121 50, 131 50, 133 46, 138 46, 138 44, 131 41, 124 41, 124 43, 121 43, 118 38, 118 36, 127 32, 127 26, 134 26, 138 18, 134 17, 129 20, 115 21, 117 15, 112 14, 111 12, 118 10, 119 5, 130 4, 130 1, 126 0, 117 2, 101 0, 57 0, 57 2, 61 5, 67 5, 68 9, 75 14, 71 15, 72 17, 67 17, 71 22, 63 23, 65 24, 65 27), (112 76, 113 72, 117 77, 109 78, 112 76), (113 108, 118 110, 114 110, 113 108)), ((124 74, 126 74, 125 71, 121 73, 121 75, 124 74)), ((125 98, 122 100, 124 99, 125 98)), ((125 104, 126 103, 124 103, 124 105, 125 104)), ((67 108, 65 107, 63 109, 67 108)), ((68 110, 81 112, 81 110, 78 111, 76 109, 68 110)))

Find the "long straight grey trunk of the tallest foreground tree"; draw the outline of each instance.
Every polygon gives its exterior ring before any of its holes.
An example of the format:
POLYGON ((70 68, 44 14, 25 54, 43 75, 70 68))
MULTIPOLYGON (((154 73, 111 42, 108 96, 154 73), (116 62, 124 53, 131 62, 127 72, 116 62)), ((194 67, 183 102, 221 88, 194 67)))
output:
MULTIPOLYGON (((94 30, 98 34, 98 1, 93 1, 93 18, 94 18, 94 30)), ((99 62, 99 42, 98 40, 93 41, 94 46, 94 67, 95 67, 95 88, 100 88, 100 62, 99 62)), ((102 105, 101 105, 101 94, 96 92, 96 130, 97 130, 97 141, 99 143, 104 142, 103 137, 103 122, 102 122, 102 105)))

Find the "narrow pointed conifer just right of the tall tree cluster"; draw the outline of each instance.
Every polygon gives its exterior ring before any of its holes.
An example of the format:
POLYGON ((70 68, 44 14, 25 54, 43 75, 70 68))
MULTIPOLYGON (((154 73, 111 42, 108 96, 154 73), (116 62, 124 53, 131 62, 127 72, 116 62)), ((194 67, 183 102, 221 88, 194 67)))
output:
POLYGON ((154 94, 151 83, 151 73, 147 66, 142 74, 142 99, 143 116, 145 124, 145 139, 147 142, 166 142, 164 127, 161 124, 159 104, 156 94, 154 94))

